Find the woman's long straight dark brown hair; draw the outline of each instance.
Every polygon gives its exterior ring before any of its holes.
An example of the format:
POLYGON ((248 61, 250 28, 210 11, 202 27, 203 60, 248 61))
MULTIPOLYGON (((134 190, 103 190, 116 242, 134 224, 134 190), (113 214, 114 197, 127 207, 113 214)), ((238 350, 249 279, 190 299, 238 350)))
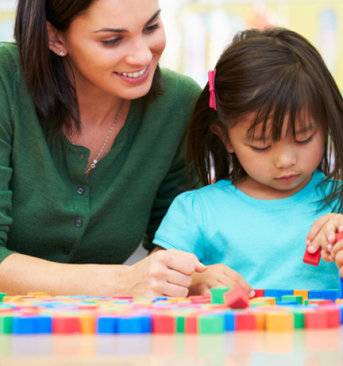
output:
MULTIPOLYGON (((25 75, 42 125, 58 136, 63 127, 70 132, 80 128, 78 96, 75 80, 61 57, 49 49, 47 21, 61 32, 67 32, 76 16, 86 12, 96 0, 19 0, 14 37, 19 62, 25 75)), ((161 70, 156 69, 150 92, 145 101, 162 93, 161 70)))

